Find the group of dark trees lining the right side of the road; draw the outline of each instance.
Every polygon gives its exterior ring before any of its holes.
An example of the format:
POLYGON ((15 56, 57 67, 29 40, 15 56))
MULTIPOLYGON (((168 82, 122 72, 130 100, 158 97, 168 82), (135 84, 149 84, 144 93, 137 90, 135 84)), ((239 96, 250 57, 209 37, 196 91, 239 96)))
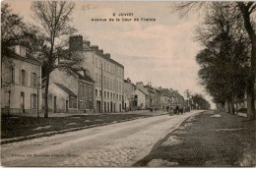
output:
POLYGON ((247 114, 255 119, 254 83, 256 34, 253 13, 255 2, 185 2, 176 10, 186 14, 204 7, 204 23, 197 29, 196 40, 204 47, 196 56, 201 66, 201 84, 216 103, 227 103, 234 113, 234 99, 247 94, 247 114))

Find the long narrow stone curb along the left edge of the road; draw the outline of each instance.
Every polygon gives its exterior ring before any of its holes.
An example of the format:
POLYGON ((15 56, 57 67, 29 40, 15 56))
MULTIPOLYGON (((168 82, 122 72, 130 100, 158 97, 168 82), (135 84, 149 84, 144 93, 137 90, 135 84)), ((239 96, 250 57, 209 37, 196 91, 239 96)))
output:
POLYGON ((133 121, 133 120, 137 120, 137 119, 156 117, 156 116, 160 116, 160 115, 164 115, 164 114, 167 114, 167 113, 162 113, 162 114, 158 114, 158 115, 155 115, 155 116, 146 115, 146 116, 142 116, 142 117, 139 117, 139 118, 119 120, 119 121, 116 121, 116 122, 113 121, 115 123, 113 123, 113 122, 102 123, 102 124, 96 124, 96 125, 85 126, 85 127, 71 128, 71 129, 66 129, 66 130, 37 133, 37 134, 34 134, 34 135, 23 136, 23 137, 18 137, 18 138, 1 139, 1 144, 10 143, 10 142, 22 142, 22 141, 27 141, 27 140, 32 140, 32 139, 37 139, 37 138, 42 138, 42 137, 49 137, 49 136, 53 136, 53 135, 57 135, 57 134, 64 134, 64 133, 68 133, 68 132, 80 131, 80 130, 84 130, 84 129, 99 127, 99 126, 117 124, 117 123, 121 123, 121 122, 133 121))

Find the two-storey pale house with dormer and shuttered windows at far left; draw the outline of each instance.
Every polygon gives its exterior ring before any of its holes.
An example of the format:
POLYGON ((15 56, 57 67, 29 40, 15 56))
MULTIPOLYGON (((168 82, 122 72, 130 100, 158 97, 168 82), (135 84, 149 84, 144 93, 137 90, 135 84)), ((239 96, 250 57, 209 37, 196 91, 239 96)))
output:
POLYGON ((41 109, 41 63, 23 45, 10 47, 7 60, 1 71, 2 113, 36 115, 37 109, 41 109))

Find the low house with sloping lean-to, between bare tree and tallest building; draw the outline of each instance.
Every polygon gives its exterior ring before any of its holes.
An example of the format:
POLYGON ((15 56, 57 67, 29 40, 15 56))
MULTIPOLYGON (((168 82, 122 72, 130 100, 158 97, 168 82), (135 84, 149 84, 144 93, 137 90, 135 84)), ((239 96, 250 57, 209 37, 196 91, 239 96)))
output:
MULTIPOLYGON (((44 95, 43 97, 45 98, 44 95)), ((50 74, 48 87, 50 112, 93 112, 94 98, 94 81, 87 76, 85 69, 70 68, 69 74, 56 69, 50 74)))

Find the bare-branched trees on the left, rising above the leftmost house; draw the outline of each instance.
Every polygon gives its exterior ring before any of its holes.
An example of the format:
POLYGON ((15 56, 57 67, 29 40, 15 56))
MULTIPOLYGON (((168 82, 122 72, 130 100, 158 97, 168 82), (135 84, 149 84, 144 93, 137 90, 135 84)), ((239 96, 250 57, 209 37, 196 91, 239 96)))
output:
MULTIPOLYGON (((44 96, 48 95, 49 75, 56 68, 64 71, 67 67, 78 67, 83 57, 68 48, 68 37, 76 31, 71 26, 71 15, 75 4, 67 1, 32 2, 34 24, 27 24, 10 5, 1 7, 1 65, 14 65, 8 58, 8 47, 17 43, 27 47, 27 51, 42 62, 42 78, 45 78, 44 96), (64 61, 59 63, 58 61, 64 61)), ((44 98, 44 117, 48 117, 48 101, 44 98)))

